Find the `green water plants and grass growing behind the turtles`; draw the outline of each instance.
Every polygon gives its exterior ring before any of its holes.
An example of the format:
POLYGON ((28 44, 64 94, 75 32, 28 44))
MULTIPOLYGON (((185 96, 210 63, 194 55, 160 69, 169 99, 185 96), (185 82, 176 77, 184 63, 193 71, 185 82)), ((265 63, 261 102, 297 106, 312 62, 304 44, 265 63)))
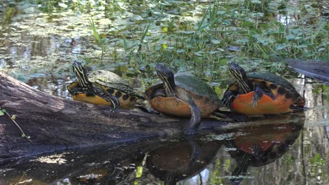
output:
MULTIPOLYGON (((49 21, 67 16, 67 12, 88 14, 88 36, 95 40, 96 51, 78 57, 106 66, 126 64, 130 72, 143 74, 144 79, 157 62, 220 84, 227 79, 230 61, 247 64, 247 71, 282 72, 282 58, 329 60, 329 23, 321 2, 23 2, 36 3, 39 10, 49 14, 49 21), (97 50, 101 53, 95 54, 97 50)), ((8 8, 4 15, 11 12, 8 8)), ((84 23, 69 28, 79 25, 84 23)))

